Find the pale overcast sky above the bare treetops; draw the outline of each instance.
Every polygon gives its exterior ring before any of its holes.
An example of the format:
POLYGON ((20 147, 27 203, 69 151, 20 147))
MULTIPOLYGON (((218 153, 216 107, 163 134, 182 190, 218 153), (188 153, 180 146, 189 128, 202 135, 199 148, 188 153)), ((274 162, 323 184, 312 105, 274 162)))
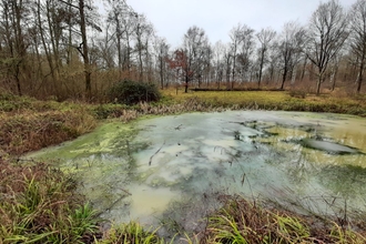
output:
MULTIPOLYGON (((284 23, 297 20, 306 24, 319 0, 126 0, 136 12, 148 17, 157 35, 174 48, 182 43, 192 26, 203 28, 212 44, 228 42, 230 30, 245 23, 260 31, 272 27, 281 31, 284 23)), ((326 1, 323 1, 326 2, 326 1)), ((339 0, 348 9, 356 0, 339 0)))

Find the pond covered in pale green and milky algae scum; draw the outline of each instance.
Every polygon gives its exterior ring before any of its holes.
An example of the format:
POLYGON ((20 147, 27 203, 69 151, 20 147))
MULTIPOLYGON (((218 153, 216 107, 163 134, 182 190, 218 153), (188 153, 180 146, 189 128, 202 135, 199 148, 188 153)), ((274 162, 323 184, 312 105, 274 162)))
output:
POLYGON ((114 121, 28 156, 82 182, 104 218, 194 231, 222 194, 304 213, 365 211, 365 129, 342 114, 189 113, 114 121))

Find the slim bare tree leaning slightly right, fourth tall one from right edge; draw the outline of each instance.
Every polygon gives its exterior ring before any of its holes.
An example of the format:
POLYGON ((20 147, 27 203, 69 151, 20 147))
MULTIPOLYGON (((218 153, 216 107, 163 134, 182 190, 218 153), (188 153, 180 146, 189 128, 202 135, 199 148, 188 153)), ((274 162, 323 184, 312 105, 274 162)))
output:
POLYGON ((276 32, 271 28, 262 29, 256 38, 261 42, 260 47, 260 74, 258 74, 258 87, 261 87, 263 67, 266 60, 267 50, 271 45, 271 41, 275 38, 276 32))

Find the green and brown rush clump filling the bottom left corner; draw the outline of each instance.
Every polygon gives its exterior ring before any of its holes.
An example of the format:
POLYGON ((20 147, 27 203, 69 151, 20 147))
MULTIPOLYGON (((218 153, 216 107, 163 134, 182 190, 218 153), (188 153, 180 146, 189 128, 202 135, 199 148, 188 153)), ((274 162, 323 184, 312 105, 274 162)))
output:
POLYGON ((96 215, 75 183, 47 164, 0 161, 0 243, 91 243, 96 215))

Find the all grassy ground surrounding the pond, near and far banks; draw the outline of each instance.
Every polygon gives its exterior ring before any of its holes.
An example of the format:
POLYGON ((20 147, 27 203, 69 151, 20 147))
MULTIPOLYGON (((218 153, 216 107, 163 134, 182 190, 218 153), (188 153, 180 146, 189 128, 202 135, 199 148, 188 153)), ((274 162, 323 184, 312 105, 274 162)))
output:
MULTIPOLYGON (((0 93, 0 244, 164 243, 139 223, 101 230, 98 214, 75 195, 75 182, 44 163, 20 159, 27 152, 72 140, 108 119, 128 122, 149 114, 192 111, 284 110, 366 116, 366 95, 299 91, 163 90, 156 103, 133 106, 39 101, 0 93), (103 238, 102 238, 103 236, 103 238)), ((225 196, 202 233, 183 243, 366 243, 366 222, 306 217, 225 196)), ((365 220, 360 216, 359 220, 365 220)))

